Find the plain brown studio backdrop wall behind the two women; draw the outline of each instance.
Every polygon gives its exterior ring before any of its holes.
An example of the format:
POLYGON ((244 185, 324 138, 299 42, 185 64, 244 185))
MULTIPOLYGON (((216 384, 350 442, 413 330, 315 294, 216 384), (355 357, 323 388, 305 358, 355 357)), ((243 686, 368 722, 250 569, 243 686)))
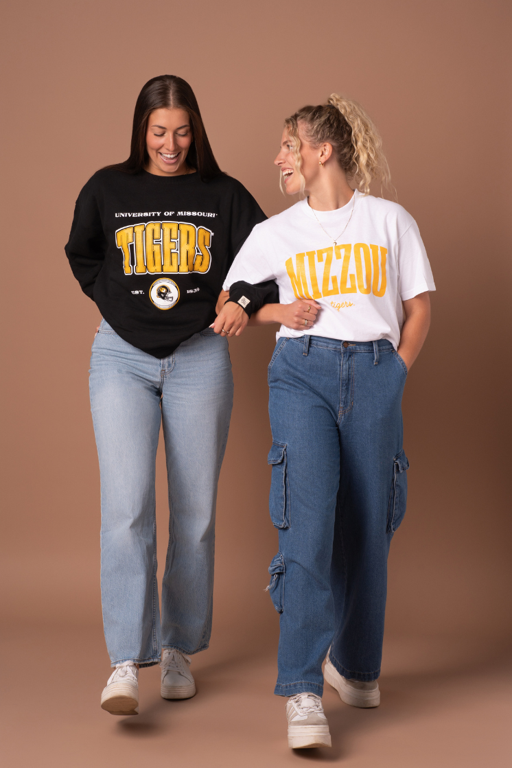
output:
MULTIPOLYGON (((286 115, 338 91, 375 119, 398 201, 418 221, 438 286, 431 333, 405 389, 410 495, 391 548, 384 670, 390 679, 420 667, 442 677, 457 665, 469 674, 497 658, 510 636, 506 8, 495 0, 10 5, 2 36, 8 364, 0 581, 9 659, 22 661, 46 637, 41 659, 58 664, 68 653, 71 664, 72 646, 80 647, 81 657, 96 654, 98 686, 107 674, 88 405, 99 313, 74 281, 63 246, 79 190, 98 167, 127 156, 137 93, 164 73, 190 82, 220 166, 269 215, 289 204, 272 164, 286 115)), ((268 654, 262 700, 269 707, 277 616, 263 588, 276 551, 266 505, 273 334, 248 329, 230 343, 236 396, 217 507, 212 644, 219 664, 230 654, 268 654)), ((158 462, 163 563, 161 453, 158 462)), ((45 690, 52 695, 51 682, 45 690)), ((97 709, 98 692, 91 693, 97 709)), ((98 727, 114 729, 111 720, 98 727)), ((45 733, 58 728, 58 717, 52 722, 45 733)), ((226 747, 218 765, 249 764, 243 749, 231 758, 226 747)), ((381 754, 401 764, 389 749, 381 754)), ((71 764, 67 753, 48 750, 48 765, 71 764)), ((13 765, 30 764, 29 753, 21 755, 13 765)), ((446 764, 458 765, 455 759, 446 764)), ((93 753, 84 760, 102 764, 93 753)), ((131 764, 128 754, 124 760, 131 764)), ((185 764, 201 760, 190 753, 185 764)), ((254 763, 266 764, 272 756, 254 763)))

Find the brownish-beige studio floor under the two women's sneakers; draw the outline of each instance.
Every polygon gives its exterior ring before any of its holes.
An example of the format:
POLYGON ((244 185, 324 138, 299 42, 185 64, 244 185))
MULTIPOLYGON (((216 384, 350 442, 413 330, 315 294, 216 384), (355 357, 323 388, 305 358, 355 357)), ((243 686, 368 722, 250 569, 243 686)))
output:
POLYGON ((357 710, 326 686, 331 750, 286 746, 272 694, 274 641, 257 657, 214 634, 193 661, 197 696, 164 701, 158 667, 140 673, 140 715, 99 707, 108 664, 101 627, 17 627, 2 647, 5 768, 510 768, 510 664, 457 638, 387 640, 382 705, 357 710), (486 655, 487 659, 482 657, 486 655))

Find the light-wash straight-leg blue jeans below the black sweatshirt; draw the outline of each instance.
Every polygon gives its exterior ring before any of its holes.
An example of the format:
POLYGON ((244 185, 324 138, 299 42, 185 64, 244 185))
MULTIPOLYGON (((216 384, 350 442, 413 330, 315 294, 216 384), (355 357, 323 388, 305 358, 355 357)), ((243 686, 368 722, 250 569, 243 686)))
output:
POLYGON ((216 489, 230 425, 227 340, 206 329, 164 359, 104 320, 91 356, 91 411, 101 471, 101 601, 112 665, 195 654, 212 622, 216 489), (169 547, 157 591, 155 459, 164 429, 169 547))

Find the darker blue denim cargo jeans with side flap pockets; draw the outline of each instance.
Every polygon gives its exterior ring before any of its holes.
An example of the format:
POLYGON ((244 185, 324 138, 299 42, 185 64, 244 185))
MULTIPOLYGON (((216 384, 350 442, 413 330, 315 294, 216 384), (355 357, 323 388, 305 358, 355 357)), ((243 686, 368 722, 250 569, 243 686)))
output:
POLYGON ((405 513, 401 396, 407 369, 385 339, 279 339, 269 365, 270 515, 281 614, 275 693, 322 695, 322 661, 380 674, 387 559, 405 513))

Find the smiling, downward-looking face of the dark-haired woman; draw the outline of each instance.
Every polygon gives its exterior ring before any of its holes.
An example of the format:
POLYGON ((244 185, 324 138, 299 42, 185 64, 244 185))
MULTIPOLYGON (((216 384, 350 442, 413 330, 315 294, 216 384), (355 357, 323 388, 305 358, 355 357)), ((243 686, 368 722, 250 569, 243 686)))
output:
POLYGON ((186 159, 193 141, 190 117, 184 109, 155 109, 147 121, 146 170, 156 176, 180 176, 189 172, 186 159))

